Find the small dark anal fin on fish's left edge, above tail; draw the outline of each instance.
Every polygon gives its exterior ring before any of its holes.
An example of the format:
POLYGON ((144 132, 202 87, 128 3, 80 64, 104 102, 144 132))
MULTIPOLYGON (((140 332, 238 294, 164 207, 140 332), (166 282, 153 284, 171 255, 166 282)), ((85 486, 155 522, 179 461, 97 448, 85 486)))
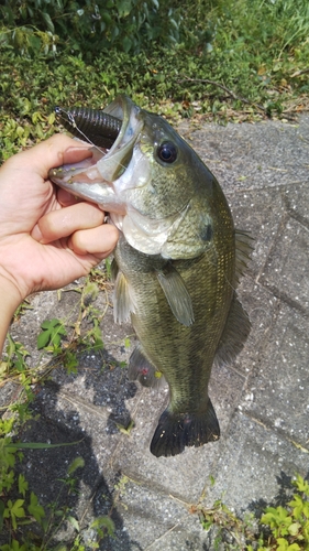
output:
POLYGON ((165 378, 147 360, 141 343, 137 343, 129 360, 129 380, 139 380, 143 387, 159 387, 165 378))

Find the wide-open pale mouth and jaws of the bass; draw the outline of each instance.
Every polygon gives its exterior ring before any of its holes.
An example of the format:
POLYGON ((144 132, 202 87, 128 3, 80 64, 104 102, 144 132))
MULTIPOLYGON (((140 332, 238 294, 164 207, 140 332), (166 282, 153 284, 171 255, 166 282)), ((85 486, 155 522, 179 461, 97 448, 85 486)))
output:
MULTIPOLYGON (((59 108, 57 109, 59 110, 59 108)), ((89 131, 92 139, 89 150, 92 156, 79 163, 65 164, 49 170, 48 177, 52 182, 74 195, 97 203, 106 210, 124 214, 124 204, 118 196, 113 182, 125 172, 132 159, 134 144, 143 127, 140 111, 141 109, 128 96, 118 96, 101 111, 107 118, 115 118, 121 122, 119 133, 111 148, 106 149, 97 145, 96 129, 92 128, 92 131, 89 131)), ((66 112, 69 114, 69 111, 66 112)), ((65 127, 69 129, 68 125, 65 127)), ((75 134, 80 133, 78 116, 71 117, 70 131, 75 134), (77 131, 74 131, 74 128, 77 131)), ((100 137, 102 132, 103 130, 100 129, 100 137)), ((88 140, 86 132, 82 136, 88 140)))

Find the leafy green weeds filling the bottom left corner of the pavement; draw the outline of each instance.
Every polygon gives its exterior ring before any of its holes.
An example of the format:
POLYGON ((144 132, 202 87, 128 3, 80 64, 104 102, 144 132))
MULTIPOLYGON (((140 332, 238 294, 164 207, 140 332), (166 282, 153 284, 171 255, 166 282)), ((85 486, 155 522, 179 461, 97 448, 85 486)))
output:
MULTIPOLYGON (((3 430, 3 426, 2 426, 3 430)), ((74 445, 55 444, 58 445, 74 445)), ((47 551, 58 550, 52 541, 65 522, 69 522, 77 536, 74 536, 73 547, 76 551, 82 551, 81 534, 78 520, 73 516, 70 507, 59 505, 66 503, 69 496, 76 491, 77 478, 74 476, 76 471, 85 466, 82 457, 77 457, 71 462, 67 469, 65 478, 59 479, 62 483, 59 493, 54 503, 48 507, 42 507, 37 496, 29 489, 29 484, 23 474, 15 475, 13 467, 16 458, 21 458, 18 450, 20 447, 27 449, 48 449, 48 444, 32 444, 32 443, 15 443, 11 444, 11 439, 5 436, 0 440, 1 446, 1 464, 0 464, 0 530, 5 528, 8 533, 8 543, 0 545, 1 551, 47 551), (13 493, 16 498, 11 499, 10 493, 13 493), (27 528, 29 527, 29 528, 27 528), (34 538, 35 534, 35 538, 34 538), (35 543, 34 543, 35 540, 35 543)), ((109 517, 100 517, 90 526, 97 533, 97 542, 103 537, 112 536, 114 526, 109 517)), ((93 543, 92 549, 97 544, 93 543)), ((65 545, 64 550, 67 549, 65 545)))

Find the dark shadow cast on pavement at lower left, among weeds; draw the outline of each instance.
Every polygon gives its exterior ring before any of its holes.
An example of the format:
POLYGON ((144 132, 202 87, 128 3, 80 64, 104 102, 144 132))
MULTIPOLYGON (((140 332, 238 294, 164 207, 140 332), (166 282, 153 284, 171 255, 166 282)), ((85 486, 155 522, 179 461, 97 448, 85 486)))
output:
MULTIPOLYGON (((103 353, 103 365, 93 370, 93 364, 102 363, 102 357, 93 360, 91 358, 91 369, 85 368, 82 358, 80 364, 82 368, 78 369, 77 376, 68 376, 64 370, 57 370, 53 374, 53 379, 48 380, 41 388, 33 404, 31 406, 33 418, 25 423, 18 440, 22 442, 42 442, 52 444, 71 444, 62 445, 55 449, 45 450, 24 450, 23 461, 19 467, 20 473, 24 474, 29 482, 29 488, 33 491, 38 503, 44 507, 46 515, 53 516, 53 529, 49 531, 47 549, 54 549, 59 541, 68 545, 70 550, 77 532, 69 522, 63 522, 58 528, 60 511, 68 509, 68 515, 76 518, 80 531, 89 538, 89 543, 96 540, 96 530, 91 529, 91 522, 99 517, 109 517, 114 523, 114 534, 109 537, 104 531, 104 537, 99 543, 102 551, 140 551, 142 548, 137 542, 130 540, 125 531, 121 515, 117 509, 114 499, 115 486, 121 478, 118 475, 106 475, 106 464, 98 461, 98 453, 93 449, 93 437, 82 426, 85 424, 82 414, 71 404, 66 411, 60 404, 60 393, 64 382, 73 382, 75 390, 85 392, 85 402, 87 403, 87 391, 92 392, 92 403, 98 410, 106 412, 104 426, 106 435, 102 437, 102 445, 107 445, 107 439, 119 437, 119 429, 115 423, 128 426, 131 421, 130 412, 126 409, 125 400, 133 398, 136 393, 136 386, 126 380, 125 371, 117 366, 117 360, 111 355, 103 353), (110 370, 107 366, 112 365, 110 370), (59 380, 60 379, 60 380, 59 380), (108 403, 108 409, 103 408, 108 403), (109 413, 107 413, 107 411, 109 413), (114 436, 112 436, 114 435, 114 436), (74 488, 67 483, 67 471, 69 465, 77 457, 82 457, 85 466, 78 468, 73 477, 76 479, 74 488)), ((70 393, 73 402, 74 392, 70 393)), ((78 403, 78 398, 76 398, 78 403)), ((93 419, 93 414, 91 415, 93 419)), ((90 418, 91 420, 91 418, 90 418)), ((93 430, 96 431, 96 421, 93 430)), ((114 445, 114 442, 113 442, 114 445)), ((26 527, 24 533, 30 533, 31 541, 41 540, 42 534, 38 531, 26 527)), ((8 534, 0 536, 0 543, 8 542, 8 534), (7 540, 5 540, 7 538, 7 540)), ((44 547, 45 549, 45 547, 44 547)), ((92 549, 91 547, 89 549, 92 549)))

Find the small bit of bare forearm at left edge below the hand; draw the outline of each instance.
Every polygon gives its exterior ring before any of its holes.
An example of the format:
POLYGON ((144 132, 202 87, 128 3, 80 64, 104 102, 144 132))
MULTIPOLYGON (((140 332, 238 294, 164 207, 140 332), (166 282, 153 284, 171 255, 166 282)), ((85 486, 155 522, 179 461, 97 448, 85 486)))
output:
POLYGON ((21 296, 13 283, 0 276, 0 357, 5 336, 21 296))

